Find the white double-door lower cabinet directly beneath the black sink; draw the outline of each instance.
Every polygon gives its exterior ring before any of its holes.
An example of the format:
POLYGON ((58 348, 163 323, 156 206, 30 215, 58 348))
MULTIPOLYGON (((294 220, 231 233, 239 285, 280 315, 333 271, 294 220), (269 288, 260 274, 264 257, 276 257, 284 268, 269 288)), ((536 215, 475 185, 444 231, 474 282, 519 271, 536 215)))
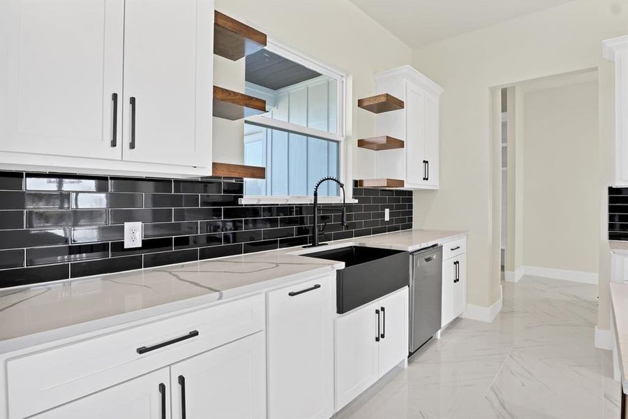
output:
POLYGON ((338 411, 408 355, 408 287, 338 316, 335 352, 338 411))

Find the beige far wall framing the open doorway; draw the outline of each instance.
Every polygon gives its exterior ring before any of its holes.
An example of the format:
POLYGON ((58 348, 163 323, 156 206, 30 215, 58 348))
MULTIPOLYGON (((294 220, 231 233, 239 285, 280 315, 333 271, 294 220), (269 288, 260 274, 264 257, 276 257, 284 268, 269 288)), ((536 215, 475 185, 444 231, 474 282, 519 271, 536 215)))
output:
POLYGON ((491 268, 491 87, 597 67, 601 41, 627 33, 625 1, 578 0, 414 50, 414 67, 444 87, 440 191, 414 193, 414 223, 470 230, 470 304, 489 307, 500 295, 491 268))

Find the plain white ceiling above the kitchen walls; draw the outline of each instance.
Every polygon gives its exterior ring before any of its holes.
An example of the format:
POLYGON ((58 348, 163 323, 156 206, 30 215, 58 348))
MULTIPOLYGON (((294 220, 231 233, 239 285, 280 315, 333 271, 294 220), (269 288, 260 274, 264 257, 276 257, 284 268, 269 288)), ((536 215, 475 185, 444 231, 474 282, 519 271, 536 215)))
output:
POLYGON ((412 48, 571 0, 350 0, 412 48))

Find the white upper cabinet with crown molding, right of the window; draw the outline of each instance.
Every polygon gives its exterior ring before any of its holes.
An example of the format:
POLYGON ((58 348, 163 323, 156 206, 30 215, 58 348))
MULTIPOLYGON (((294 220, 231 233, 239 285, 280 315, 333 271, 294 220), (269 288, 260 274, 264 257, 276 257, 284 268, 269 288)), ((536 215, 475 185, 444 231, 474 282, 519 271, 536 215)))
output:
POLYGON ((376 154, 376 177, 401 179, 406 189, 438 189, 439 101, 442 87, 410 66, 375 75, 377 93, 404 102, 402 110, 377 115, 377 135, 405 142, 376 154))

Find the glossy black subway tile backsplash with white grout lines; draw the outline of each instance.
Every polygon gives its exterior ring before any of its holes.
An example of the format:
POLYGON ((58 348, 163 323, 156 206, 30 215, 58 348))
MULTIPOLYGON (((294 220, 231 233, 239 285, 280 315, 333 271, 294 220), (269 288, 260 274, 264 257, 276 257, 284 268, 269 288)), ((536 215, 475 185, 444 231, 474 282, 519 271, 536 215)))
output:
MULTIPOLYGON (((308 244, 311 205, 240 205, 243 195, 237 178, 0 171, 0 288, 308 244), (144 223, 140 248, 124 249, 128 221, 144 223)), ((340 206, 322 205, 338 210, 320 214, 322 241, 412 228, 410 191, 354 187, 353 195, 345 228, 340 206)), ((612 195, 623 208, 628 192, 612 195)), ((611 222, 628 236, 628 212, 611 222)))

